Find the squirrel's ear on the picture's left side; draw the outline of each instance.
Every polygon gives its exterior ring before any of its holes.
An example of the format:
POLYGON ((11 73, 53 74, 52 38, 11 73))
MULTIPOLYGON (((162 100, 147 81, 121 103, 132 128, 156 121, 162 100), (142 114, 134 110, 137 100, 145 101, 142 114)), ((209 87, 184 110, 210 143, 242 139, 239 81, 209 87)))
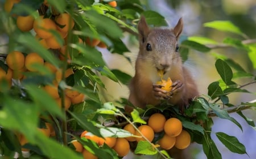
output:
POLYGON ((140 40, 144 42, 144 40, 146 40, 148 33, 150 32, 150 28, 148 27, 144 16, 141 16, 141 19, 139 20, 138 32, 140 40))

